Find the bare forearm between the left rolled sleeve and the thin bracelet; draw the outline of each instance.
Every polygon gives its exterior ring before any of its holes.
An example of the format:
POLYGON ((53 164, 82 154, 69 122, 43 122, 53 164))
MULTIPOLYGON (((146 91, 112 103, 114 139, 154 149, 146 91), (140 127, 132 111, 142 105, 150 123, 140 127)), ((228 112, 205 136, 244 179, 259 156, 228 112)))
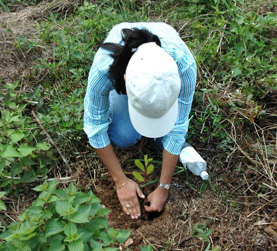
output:
POLYGON ((107 167, 109 173, 112 175, 114 182, 117 186, 121 186, 126 180, 127 177, 122 171, 121 165, 117 156, 115 155, 114 149, 111 144, 108 146, 95 149, 104 165, 107 167))

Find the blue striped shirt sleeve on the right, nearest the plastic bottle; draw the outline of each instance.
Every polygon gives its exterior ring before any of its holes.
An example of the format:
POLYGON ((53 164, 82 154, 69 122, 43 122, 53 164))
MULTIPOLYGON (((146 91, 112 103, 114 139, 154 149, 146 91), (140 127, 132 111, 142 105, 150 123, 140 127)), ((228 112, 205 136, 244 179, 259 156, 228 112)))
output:
POLYGON ((178 97, 177 121, 173 129, 162 139, 164 149, 171 154, 179 155, 186 141, 196 77, 197 68, 195 62, 180 72, 181 90, 178 97))

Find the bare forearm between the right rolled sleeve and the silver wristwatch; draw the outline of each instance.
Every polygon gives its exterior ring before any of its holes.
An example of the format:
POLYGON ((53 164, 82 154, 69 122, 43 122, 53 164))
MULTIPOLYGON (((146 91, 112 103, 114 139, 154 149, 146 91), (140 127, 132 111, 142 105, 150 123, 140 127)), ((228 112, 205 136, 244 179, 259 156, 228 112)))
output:
POLYGON ((160 174, 160 182, 164 184, 170 184, 172 175, 177 165, 179 155, 173 155, 163 149, 162 153, 162 167, 160 174))

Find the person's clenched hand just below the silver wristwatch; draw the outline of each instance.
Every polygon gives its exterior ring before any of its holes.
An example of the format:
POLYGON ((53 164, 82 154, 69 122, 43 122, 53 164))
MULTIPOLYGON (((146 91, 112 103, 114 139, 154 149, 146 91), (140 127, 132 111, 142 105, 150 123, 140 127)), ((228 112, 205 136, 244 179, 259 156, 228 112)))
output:
POLYGON ((168 197, 168 190, 158 186, 150 193, 145 202, 144 208, 147 212, 161 212, 168 197), (147 204, 150 203, 150 206, 147 204))

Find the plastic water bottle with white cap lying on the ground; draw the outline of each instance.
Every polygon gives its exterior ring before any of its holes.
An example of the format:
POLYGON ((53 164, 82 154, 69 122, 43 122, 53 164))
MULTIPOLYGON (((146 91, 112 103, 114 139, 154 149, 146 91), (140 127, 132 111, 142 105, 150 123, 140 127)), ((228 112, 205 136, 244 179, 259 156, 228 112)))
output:
POLYGON ((186 166, 192 173, 198 175, 202 180, 207 180, 209 174, 207 173, 207 163, 200 154, 189 144, 185 143, 180 156, 180 161, 186 166))

